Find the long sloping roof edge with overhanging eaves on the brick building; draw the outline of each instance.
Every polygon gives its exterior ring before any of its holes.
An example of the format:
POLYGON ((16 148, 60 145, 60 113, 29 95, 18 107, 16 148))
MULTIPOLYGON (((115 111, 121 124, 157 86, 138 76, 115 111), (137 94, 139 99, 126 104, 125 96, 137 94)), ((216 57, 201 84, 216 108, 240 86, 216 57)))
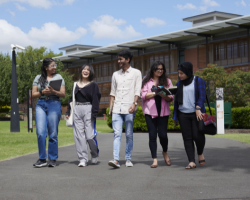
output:
POLYGON ((68 56, 76 56, 76 57, 87 57, 87 58, 94 58, 101 56, 100 54, 96 52, 103 52, 103 53, 116 53, 124 48, 118 47, 118 46, 126 46, 126 47, 137 47, 137 48, 146 48, 150 46, 154 46, 157 43, 149 40, 159 40, 159 41, 165 41, 165 42, 181 42, 186 41, 189 39, 195 39, 197 36, 190 35, 186 32, 193 32, 193 33, 202 33, 202 34, 216 34, 225 32, 227 30, 235 29, 232 25, 226 24, 226 22, 235 23, 235 24, 250 24, 250 15, 246 16, 240 16, 233 19, 228 19, 224 21, 219 21, 215 23, 210 23, 206 25, 200 25, 180 31, 174 31, 170 33, 165 33, 161 35, 156 35, 152 37, 142 38, 138 40, 128 41, 124 43, 119 44, 113 44, 105 47, 98 47, 91 50, 85 50, 85 51, 78 51, 75 53, 70 53, 63 56, 55 57, 54 59, 60 59, 61 61, 74 61, 75 58, 70 58, 68 56), (96 52, 92 52, 96 51, 96 52))

